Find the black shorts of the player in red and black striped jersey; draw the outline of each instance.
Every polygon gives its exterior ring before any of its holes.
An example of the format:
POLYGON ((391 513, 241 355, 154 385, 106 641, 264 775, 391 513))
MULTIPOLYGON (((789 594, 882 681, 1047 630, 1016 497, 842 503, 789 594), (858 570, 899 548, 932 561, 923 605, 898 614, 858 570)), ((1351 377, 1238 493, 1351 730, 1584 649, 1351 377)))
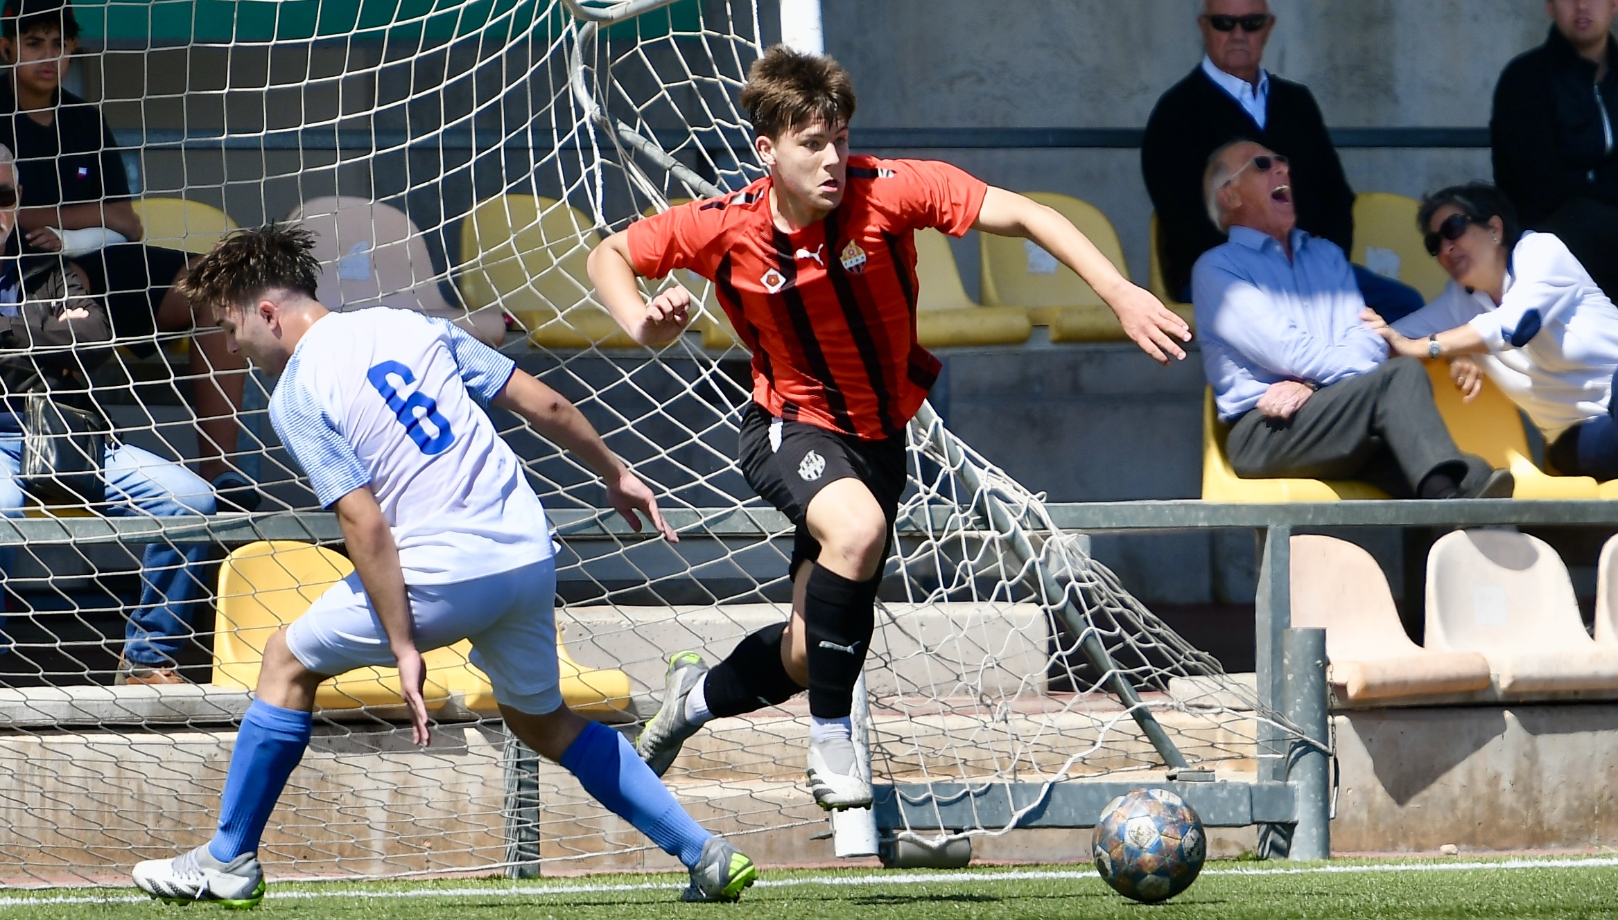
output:
POLYGON ((903 437, 864 441, 806 422, 777 419, 757 403, 749 403, 741 414, 736 459, 759 498, 798 525, 788 576, 798 574, 799 563, 812 563, 820 556, 820 543, 809 535, 804 516, 809 513, 809 501, 840 479, 866 483, 888 519, 892 543, 900 498, 909 482, 903 437))

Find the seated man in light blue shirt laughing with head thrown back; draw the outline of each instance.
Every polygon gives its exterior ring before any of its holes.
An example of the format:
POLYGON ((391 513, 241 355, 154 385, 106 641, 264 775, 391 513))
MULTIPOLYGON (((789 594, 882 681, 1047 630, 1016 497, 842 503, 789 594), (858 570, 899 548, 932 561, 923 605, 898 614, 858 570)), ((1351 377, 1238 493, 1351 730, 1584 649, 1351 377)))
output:
POLYGON ((1388 361, 1343 251, 1296 226, 1285 157, 1226 144, 1204 189, 1230 241, 1197 259, 1192 304, 1238 475, 1359 479, 1403 498, 1511 495, 1510 472, 1455 446, 1421 362, 1388 361))

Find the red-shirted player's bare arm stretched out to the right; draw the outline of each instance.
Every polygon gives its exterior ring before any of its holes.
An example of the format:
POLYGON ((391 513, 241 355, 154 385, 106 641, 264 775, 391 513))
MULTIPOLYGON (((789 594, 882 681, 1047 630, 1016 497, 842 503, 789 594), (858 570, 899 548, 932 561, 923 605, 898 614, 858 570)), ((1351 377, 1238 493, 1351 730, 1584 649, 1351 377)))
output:
POLYGON ((1180 348, 1181 341, 1191 341, 1191 327, 1186 320, 1125 278, 1102 251, 1055 209, 990 186, 972 226, 984 233, 1021 236, 1040 244, 1045 252, 1095 288, 1095 293, 1118 314, 1123 331, 1141 346, 1141 351, 1162 364, 1168 364, 1170 356, 1186 357, 1186 349, 1180 348))

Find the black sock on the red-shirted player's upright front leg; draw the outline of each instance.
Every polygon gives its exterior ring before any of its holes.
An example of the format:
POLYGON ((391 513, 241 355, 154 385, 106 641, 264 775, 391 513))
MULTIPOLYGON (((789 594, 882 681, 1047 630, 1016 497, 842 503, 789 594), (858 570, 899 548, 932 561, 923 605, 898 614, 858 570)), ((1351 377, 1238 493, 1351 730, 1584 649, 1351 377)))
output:
POLYGON ((851 582, 819 564, 809 572, 804 632, 809 639, 811 715, 824 720, 848 716, 854 681, 870 652, 880 584, 880 574, 869 582, 851 582))

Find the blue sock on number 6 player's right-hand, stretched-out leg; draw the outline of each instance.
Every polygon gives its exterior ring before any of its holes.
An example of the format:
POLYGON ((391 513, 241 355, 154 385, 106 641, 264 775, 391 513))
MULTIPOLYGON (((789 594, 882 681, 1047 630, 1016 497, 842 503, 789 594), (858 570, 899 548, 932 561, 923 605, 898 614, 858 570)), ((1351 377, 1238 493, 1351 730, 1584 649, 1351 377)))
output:
POLYGON ((691 820, 675 796, 629 742, 613 729, 591 723, 561 755, 561 765, 613 815, 652 838, 665 854, 691 868, 714 834, 691 820))

